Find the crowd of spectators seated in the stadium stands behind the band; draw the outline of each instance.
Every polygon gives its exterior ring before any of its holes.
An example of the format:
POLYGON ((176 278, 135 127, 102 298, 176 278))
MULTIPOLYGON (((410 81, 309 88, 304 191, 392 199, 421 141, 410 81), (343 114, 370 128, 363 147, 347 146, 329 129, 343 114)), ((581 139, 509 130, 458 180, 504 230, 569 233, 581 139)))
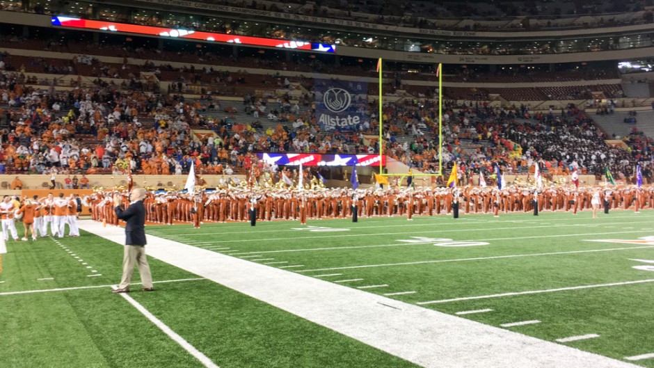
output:
MULTIPOLYGON (((130 168, 181 174, 195 162, 205 173, 229 173, 246 167, 255 152, 378 152, 377 102, 363 104, 370 119, 357 131, 321 131, 310 78, 299 80, 309 92, 297 102, 289 95, 271 102, 246 94, 242 106, 233 106, 210 94, 186 100, 179 90, 197 77, 228 86, 245 83, 247 76, 232 78, 229 72, 206 67, 171 70, 148 61, 146 71, 175 72, 179 87, 162 94, 133 83, 106 83, 94 74, 95 85, 64 92, 54 83, 48 90, 35 89, 31 78, 5 63, 6 58, 0 58, 5 68, 0 122, 6 127, 0 132, 0 161, 18 172, 118 173, 130 168), (191 127, 212 130, 215 136, 202 136, 198 142, 191 127)), ((73 64, 101 65, 88 55, 76 56, 73 64)), ((280 88, 291 87, 286 77, 269 77, 280 88)), ((457 161, 463 173, 484 170, 493 162, 520 172, 537 162, 552 173, 571 168, 602 173, 608 167, 618 177, 629 177, 636 162, 651 160, 651 139, 635 132, 628 138, 630 150, 609 147, 603 132, 576 106, 548 113, 532 113, 529 106, 491 108, 470 100, 458 106, 448 99, 444 106, 443 161, 446 167, 457 161)), ((438 104, 429 99, 385 104, 384 153, 426 172, 438 170, 437 116, 438 104)))

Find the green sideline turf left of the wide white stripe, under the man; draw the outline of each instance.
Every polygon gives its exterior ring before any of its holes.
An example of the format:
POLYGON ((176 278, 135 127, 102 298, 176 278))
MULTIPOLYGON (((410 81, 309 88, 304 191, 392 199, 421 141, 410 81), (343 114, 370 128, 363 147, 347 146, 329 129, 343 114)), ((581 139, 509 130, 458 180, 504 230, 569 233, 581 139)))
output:
MULTIPOLYGON (((10 241, 8 249, 0 273, 0 367, 202 367, 122 296, 111 294, 122 246, 83 232, 79 238, 10 241), (100 276, 88 276, 93 274, 100 276)), ((155 280, 197 278, 157 259, 150 266, 155 280)), ((154 293, 129 296, 223 368, 415 367, 208 280, 155 287, 154 293)))

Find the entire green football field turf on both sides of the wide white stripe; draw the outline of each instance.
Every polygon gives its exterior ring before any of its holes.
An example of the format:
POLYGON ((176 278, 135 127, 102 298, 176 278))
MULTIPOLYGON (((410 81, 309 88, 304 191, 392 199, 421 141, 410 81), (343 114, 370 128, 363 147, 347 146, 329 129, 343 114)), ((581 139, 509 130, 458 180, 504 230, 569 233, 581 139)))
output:
MULTIPOLYGON (((654 367, 654 211, 598 216, 374 217, 146 231, 148 247, 167 239, 207 258, 375 294, 391 307, 401 302, 395 306, 654 367)), ((83 232, 7 247, 0 367, 419 366, 185 271, 188 259, 150 257, 156 291, 133 285, 122 297, 111 294, 122 269, 118 243, 83 232)))

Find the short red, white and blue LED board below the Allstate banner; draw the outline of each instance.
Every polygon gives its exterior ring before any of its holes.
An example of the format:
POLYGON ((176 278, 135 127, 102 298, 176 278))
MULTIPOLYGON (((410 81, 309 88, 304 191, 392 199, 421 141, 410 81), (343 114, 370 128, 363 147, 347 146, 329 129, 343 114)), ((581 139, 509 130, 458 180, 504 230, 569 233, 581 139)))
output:
POLYGON ((257 157, 278 166, 385 166, 378 154, 258 153, 257 157))

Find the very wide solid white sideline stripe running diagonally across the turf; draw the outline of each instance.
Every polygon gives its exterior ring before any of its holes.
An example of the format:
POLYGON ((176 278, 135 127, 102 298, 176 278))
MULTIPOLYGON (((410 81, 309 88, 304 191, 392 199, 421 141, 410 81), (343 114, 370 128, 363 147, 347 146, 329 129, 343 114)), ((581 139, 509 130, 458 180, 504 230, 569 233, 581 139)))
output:
MULTIPOLYGON (((125 241, 122 229, 93 221, 79 221, 79 227, 120 245, 125 241)), ((636 367, 336 282, 148 237, 150 257, 422 367, 636 367)))

